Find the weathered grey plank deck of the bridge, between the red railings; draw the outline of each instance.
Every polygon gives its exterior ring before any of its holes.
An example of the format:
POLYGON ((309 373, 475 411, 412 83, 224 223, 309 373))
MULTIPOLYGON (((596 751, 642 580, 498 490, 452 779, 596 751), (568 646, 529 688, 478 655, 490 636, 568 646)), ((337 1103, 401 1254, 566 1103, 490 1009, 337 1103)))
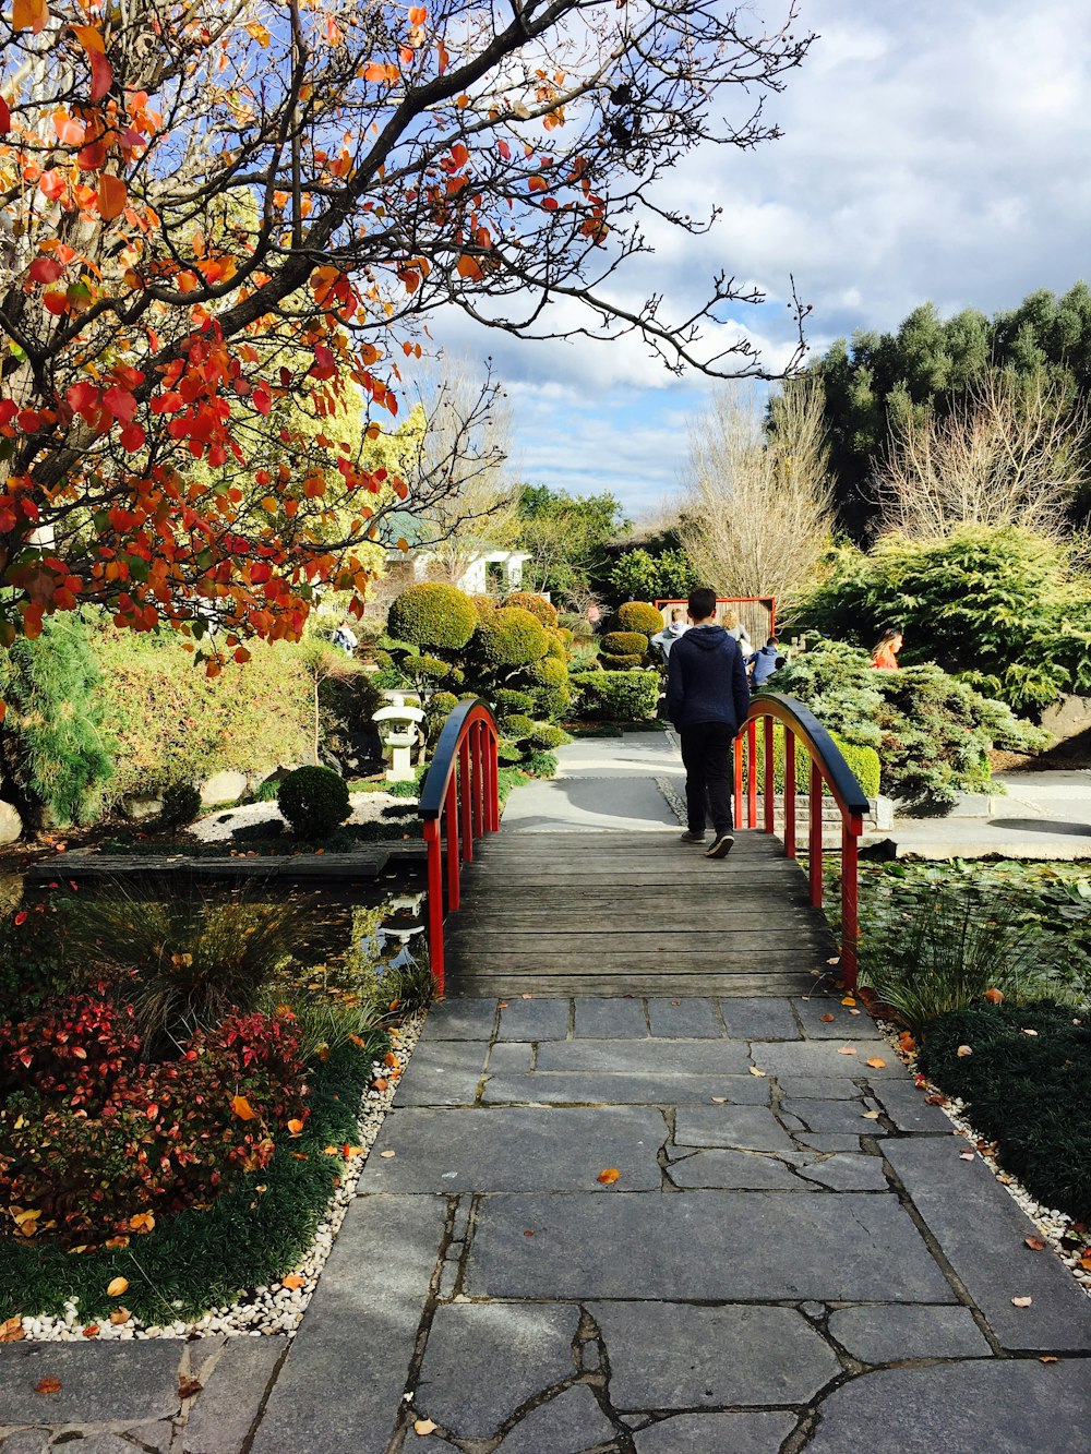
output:
POLYGON ((669 833, 503 832, 474 845, 447 919, 451 996, 786 995, 836 944, 783 843, 726 861, 669 833))

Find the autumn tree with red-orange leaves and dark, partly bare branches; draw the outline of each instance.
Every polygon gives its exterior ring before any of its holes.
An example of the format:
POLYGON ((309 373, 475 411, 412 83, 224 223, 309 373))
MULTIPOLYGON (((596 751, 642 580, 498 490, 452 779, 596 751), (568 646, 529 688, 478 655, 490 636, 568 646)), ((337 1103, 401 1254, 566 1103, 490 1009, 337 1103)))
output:
POLYGON ((257 458, 247 425, 355 391, 374 436, 439 308, 762 374, 719 342, 759 297, 735 279, 679 320, 617 300, 647 217, 704 225, 658 199, 663 172, 775 137, 762 96, 810 44, 777 7, 765 29, 720 0, 12 0, 0 643, 89 601, 215 630, 214 670, 297 640, 323 582, 361 598, 358 545, 409 486, 336 433, 301 459, 289 420, 257 458))

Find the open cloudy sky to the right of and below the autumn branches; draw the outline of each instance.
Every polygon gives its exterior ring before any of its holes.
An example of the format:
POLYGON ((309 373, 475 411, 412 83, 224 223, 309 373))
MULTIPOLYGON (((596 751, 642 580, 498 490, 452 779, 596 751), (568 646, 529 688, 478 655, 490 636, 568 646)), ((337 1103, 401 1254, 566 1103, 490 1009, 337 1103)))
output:
MULTIPOLYGON (((784 3, 754 9, 772 22, 784 3)), ((800 12, 819 39, 767 103, 783 140, 687 158, 665 193, 723 215, 642 262, 634 295, 662 291, 681 313, 720 269, 756 279, 770 301, 738 317, 775 362, 791 342, 790 275, 813 305, 813 352, 895 329, 927 300, 995 313, 1091 278, 1088 0, 800 0, 800 12)), ((610 489, 634 516, 676 491, 700 378, 674 378, 633 340, 451 342, 493 355, 516 477, 610 489)))

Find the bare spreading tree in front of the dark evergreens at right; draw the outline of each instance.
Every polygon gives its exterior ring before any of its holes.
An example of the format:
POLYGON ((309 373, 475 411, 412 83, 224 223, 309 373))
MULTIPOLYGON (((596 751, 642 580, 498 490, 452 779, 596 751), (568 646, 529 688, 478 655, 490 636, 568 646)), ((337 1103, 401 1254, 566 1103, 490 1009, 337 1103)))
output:
POLYGON ((1023 525, 1063 539, 1090 443, 1084 400, 1042 372, 992 369, 950 414, 911 411, 892 427, 876 480, 882 528, 943 539, 962 525, 1023 525))

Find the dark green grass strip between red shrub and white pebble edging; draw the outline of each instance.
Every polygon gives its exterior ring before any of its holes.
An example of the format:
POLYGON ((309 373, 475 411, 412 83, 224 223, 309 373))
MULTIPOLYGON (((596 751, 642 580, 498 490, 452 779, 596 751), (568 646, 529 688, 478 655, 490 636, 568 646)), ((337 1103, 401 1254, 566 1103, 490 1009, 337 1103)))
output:
POLYGON ((385 1048, 385 1034, 372 1032, 365 1048, 332 1050, 326 1064, 314 1066, 303 1134, 278 1140, 271 1165, 247 1175, 208 1211, 163 1220, 125 1249, 76 1253, 0 1239, 0 1322, 16 1314, 64 1316, 65 1301, 79 1297, 80 1322, 124 1304, 145 1323, 172 1323, 231 1303, 249 1287, 279 1281, 310 1246, 333 1178, 343 1169, 342 1157, 326 1156, 324 1147, 355 1143, 371 1063, 385 1048), (129 1287, 109 1298, 106 1287, 115 1277, 129 1287))

